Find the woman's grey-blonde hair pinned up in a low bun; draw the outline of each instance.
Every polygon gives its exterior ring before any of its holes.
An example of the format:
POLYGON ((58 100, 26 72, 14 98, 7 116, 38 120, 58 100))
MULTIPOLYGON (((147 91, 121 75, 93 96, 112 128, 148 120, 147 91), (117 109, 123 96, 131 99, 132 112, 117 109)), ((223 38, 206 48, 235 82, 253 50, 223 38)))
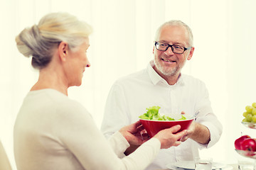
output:
POLYGON ((34 68, 42 69, 48 65, 60 42, 67 42, 68 47, 75 50, 91 33, 90 25, 69 13, 49 13, 38 25, 22 30, 16 36, 16 45, 21 54, 32 56, 34 68))

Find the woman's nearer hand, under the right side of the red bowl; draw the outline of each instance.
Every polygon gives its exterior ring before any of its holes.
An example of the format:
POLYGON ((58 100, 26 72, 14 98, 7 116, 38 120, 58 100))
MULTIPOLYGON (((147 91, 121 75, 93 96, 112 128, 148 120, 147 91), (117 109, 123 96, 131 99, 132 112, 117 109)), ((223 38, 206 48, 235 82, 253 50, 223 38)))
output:
POLYGON ((188 134, 187 130, 178 132, 181 129, 180 125, 175 125, 171 128, 161 130, 154 137, 156 137, 161 142, 161 149, 167 149, 169 147, 177 147, 181 144, 180 139, 188 134), (178 132, 178 133, 176 133, 178 132))

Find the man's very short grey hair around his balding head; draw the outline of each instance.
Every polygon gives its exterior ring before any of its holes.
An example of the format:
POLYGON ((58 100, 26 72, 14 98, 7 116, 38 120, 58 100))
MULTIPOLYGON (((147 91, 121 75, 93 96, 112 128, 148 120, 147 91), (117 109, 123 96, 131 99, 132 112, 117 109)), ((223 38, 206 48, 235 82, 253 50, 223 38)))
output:
POLYGON ((193 46, 193 33, 191 28, 189 28, 188 25, 186 25, 186 23, 183 23, 180 20, 171 20, 171 21, 167 21, 166 23, 163 23, 157 30, 156 30, 156 35, 155 35, 155 40, 157 40, 159 38, 160 32, 161 32, 161 28, 163 28, 164 26, 184 26, 188 32, 188 45, 189 46, 193 46))

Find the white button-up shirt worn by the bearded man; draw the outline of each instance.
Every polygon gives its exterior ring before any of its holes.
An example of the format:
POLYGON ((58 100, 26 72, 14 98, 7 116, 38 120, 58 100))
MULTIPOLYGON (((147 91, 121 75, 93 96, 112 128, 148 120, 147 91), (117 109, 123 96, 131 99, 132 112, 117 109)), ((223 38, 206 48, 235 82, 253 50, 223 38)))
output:
POLYGON ((210 142, 201 145, 188 139, 178 147, 161 149, 148 169, 164 169, 171 162, 193 160, 198 156, 198 149, 215 145, 220 139, 222 125, 213 113, 203 81, 181 74, 176 84, 169 85, 153 66, 151 61, 146 69, 114 82, 107 98, 101 130, 109 137, 124 125, 139 120, 139 115, 146 113, 146 108, 151 106, 160 106, 159 113, 172 118, 180 116, 181 111, 188 115, 200 111, 196 122, 210 130, 210 142))

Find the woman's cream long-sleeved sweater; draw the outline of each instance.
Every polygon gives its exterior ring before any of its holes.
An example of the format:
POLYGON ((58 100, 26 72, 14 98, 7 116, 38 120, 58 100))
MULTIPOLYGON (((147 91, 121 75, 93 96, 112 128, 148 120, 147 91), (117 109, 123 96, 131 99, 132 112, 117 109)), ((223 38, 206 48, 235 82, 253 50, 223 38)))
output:
POLYGON ((108 142, 80 103, 53 89, 30 91, 14 127, 18 170, 145 169, 160 142, 152 138, 124 157, 127 147, 119 132, 108 142))

